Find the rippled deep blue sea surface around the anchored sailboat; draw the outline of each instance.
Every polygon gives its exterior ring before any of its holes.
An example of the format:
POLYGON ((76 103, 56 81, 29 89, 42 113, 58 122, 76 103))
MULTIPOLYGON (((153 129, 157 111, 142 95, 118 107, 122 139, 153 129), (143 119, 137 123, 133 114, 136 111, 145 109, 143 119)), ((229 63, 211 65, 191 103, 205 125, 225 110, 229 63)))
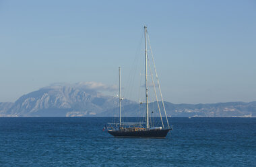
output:
POLYGON ((170 118, 166 139, 112 137, 111 121, 0 118, 0 166, 256 166, 256 118, 170 118))

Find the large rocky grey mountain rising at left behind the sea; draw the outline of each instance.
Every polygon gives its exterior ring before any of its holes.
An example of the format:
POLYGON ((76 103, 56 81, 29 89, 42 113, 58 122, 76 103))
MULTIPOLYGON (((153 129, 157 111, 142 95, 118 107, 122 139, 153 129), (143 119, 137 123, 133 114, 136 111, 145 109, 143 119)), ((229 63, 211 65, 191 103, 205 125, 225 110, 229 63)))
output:
MULTIPOLYGON (((133 103, 123 100, 124 105, 133 103)), ((119 98, 82 86, 50 86, 20 97, 2 116, 93 116, 118 104, 119 98)))

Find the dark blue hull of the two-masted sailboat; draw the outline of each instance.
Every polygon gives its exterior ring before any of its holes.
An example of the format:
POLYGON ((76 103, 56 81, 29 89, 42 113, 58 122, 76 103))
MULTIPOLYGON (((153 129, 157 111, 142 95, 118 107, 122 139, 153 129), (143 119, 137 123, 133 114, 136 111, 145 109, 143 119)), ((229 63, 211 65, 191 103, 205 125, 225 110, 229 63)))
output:
POLYGON ((151 138, 165 138, 170 129, 154 129, 143 131, 123 131, 123 130, 108 130, 108 133, 115 137, 151 137, 151 138))

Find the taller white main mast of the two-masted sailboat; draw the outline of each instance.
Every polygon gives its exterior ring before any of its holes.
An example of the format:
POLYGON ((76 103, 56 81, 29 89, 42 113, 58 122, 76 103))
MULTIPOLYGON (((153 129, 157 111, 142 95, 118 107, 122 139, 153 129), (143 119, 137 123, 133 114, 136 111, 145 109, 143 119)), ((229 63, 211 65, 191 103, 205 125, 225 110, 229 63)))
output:
POLYGON ((147 129, 150 128, 148 121, 148 53, 147 53, 147 27, 144 26, 145 30, 145 73, 146 73, 146 124, 147 129))

